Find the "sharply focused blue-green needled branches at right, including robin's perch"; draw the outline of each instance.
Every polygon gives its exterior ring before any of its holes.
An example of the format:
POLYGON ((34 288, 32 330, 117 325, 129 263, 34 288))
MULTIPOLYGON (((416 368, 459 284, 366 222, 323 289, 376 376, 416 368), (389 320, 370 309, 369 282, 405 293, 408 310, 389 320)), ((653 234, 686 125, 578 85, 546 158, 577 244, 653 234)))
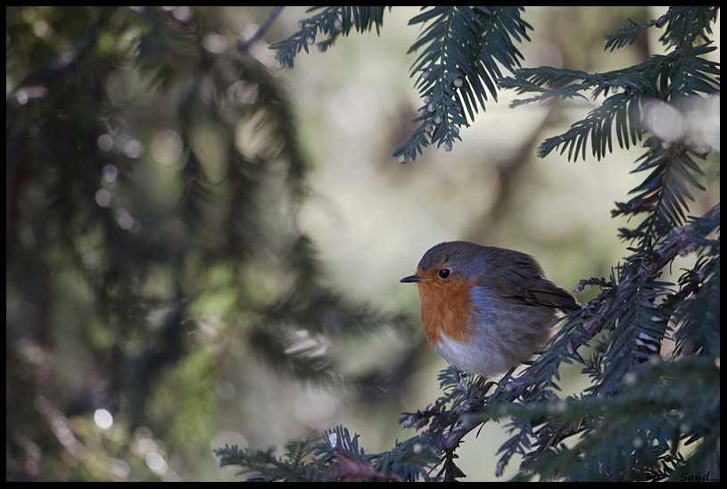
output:
MULTIPOLYGON (((710 183, 704 162, 715 148, 689 134, 665 137, 645 123, 648 104, 686 113, 683 108, 696 99, 719 96, 719 63, 705 57, 716 49, 708 35, 717 13, 717 7, 672 7, 655 21, 628 21, 607 37, 607 51, 632 44, 648 29, 664 29, 660 41, 668 52, 622 70, 589 74, 550 67, 514 70, 520 54, 511 39, 527 39, 529 27, 515 7, 424 7, 410 21, 425 25, 411 48, 421 50, 412 75, 428 98, 417 118, 421 125, 396 154, 414 159, 434 141, 450 147, 459 138, 456 128, 467 125, 488 96, 495 97, 495 83, 533 94, 515 105, 591 96, 599 106, 564 134, 547 139, 538 154, 559 148, 569 160, 585 159, 590 142, 591 154, 605 158, 614 149, 614 133, 619 147, 644 145, 633 171, 647 175, 632 199, 617 203, 614 211, 635 223, 620 230, 631 254, 608 278, 582 281, 582 287, 598 287, 598 296, 568 315, 524 370, 496 387, 453 368, 443 370, 442 396, 401 419, 420 433, 391 452, 367 456, 357 435, 351 438, 337 427, 324 436, 318 452, 307 449, 310 461, 297 470, 297 454, 310 442, 291 445, 282 459, 272 452, 220 448, 221 462, 265 480, 457 480, 465 477, 455 463, 462 437, 504 419, 510 437, 500 447, 498 474, 521 458, 515 480, 679 481, 706 474, 718 480, 720 205, 701 216, 689 214, 690 201, 710 183), (495 62, 513 76, 503 78, 495 62), (665 269, 684 257, 693 264, 678 282, 663 279, 665 269), (669 351, 665 343, 671 341, 669 351), (559 395, 564 364, 581 365, 590 386, 559 395), (411 459, 412 452, 427 457, 411 459), (388 461, 383 466, 380 460, 388 461)), ((338 15, 338 21, 351 24, 350 12, 338 15)), ((328 29, 315 17, 302 25, 328 29)), ((292 52, 285 46, 293 41, 274 46, 278 55, 292 52)), ((292 59, 285 59, 292 66, 292 59)))

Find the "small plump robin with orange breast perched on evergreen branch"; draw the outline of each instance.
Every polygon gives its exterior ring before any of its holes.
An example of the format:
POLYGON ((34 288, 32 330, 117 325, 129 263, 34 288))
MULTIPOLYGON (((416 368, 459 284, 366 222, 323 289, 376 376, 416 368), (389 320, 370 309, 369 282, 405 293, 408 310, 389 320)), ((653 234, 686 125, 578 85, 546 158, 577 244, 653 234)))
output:
POLYGON ((548 341, 558 311, 581 308, 532 256, 466 241, 435 245, 401 282, 417 284, 434 349, 454 367, 484 377, 527 361, 548 341))

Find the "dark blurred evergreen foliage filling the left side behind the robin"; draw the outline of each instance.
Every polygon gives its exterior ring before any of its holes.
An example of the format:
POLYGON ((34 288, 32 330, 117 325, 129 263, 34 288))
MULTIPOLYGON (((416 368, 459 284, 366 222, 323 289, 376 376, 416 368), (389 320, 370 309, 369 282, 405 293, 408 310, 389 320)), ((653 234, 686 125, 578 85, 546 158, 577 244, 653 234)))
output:
POLYGON ((333 384, 331 337, 405 323, 325 285, 291 104, 216 12, 7 10, 8 480, 174 479, 230 369, 333 384))

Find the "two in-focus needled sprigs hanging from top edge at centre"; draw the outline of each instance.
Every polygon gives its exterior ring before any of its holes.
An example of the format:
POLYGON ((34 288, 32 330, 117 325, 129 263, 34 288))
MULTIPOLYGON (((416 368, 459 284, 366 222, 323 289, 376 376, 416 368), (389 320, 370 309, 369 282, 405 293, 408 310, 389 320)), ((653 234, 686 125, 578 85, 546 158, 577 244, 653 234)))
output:
MULTIPOLYGON (((392 7, 389 7, 391 9, 392 7)), ((313 7, 316 15, 301 21, 301 30, 270 46, 282 66, 293 68, 301 51, 308 53, 318 32, 328 38, 318 44, 326 50, 336 37, 346 36, 354 27, 363 32, 384 22, 385 7, 313 7)), ((422 32, 409 53, 421 51, 411 67, 424 105, 409 141, 393 155, 401 162, 415 160, 428 145, 436 143, 451 150, 459 128, 468 127, 475 113, 485 108, 488 97, 497 100, 501 68, 512 71, 523 55, 513 41, 529 40, 533 29, 520 17, 522 7, 422 7, 422 13, 409 24, 421 25, 422 32)))

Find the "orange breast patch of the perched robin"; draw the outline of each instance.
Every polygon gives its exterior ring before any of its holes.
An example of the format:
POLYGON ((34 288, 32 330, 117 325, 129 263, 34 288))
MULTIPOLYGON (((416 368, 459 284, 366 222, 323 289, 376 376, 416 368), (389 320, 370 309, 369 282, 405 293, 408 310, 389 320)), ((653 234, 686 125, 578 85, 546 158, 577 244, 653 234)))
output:
POLYGON ((419 282, 422 302, 422 324, 429 343, 440 341, 442 333, 458 343, 469 343, 471 331, 467 329, 472 299, 469 289, 473 282, 464 278, 447 281, 419 282))

